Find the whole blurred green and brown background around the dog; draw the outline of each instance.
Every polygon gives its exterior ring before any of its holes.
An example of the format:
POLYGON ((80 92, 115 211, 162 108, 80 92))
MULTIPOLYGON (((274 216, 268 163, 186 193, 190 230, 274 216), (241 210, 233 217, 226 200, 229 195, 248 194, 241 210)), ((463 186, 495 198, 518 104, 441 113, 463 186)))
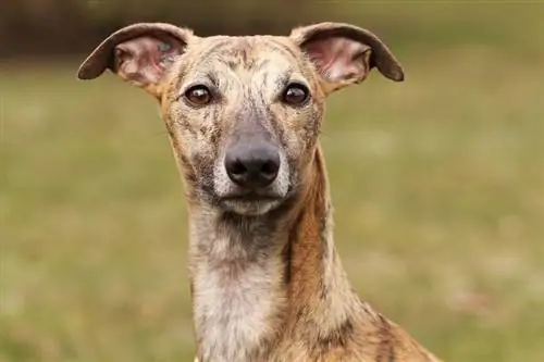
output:
POLYGON ((0 361, 190 361, 182 185, 154 100, 81 61, 137 21, 375 32, 406 68, 332 96, 336 242, 446 361, 544 361, 544 3, 0 4, 0 361))

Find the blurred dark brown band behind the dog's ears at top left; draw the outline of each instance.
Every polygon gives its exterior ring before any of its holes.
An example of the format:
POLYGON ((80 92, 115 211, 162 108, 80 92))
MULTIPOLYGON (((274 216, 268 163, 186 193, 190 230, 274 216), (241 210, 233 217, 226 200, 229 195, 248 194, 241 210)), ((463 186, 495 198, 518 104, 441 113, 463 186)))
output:
POLYGON ((0 4, 0 55, 70 53, 133 22, 171 22, 199 34, 285 30, 330 13, 311 0, 21 0, 0 4))

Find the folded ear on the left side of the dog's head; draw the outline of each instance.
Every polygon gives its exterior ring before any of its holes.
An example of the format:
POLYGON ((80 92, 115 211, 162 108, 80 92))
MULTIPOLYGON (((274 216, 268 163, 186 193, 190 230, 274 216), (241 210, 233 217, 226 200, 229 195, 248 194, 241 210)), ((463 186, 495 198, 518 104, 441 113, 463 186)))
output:
POLYGON ((106 70, 156 98, 161 78, 195 37, 190 29, 165 23, 138 23, 106 38, 82 63, 79 79, 94 79, 106 70))

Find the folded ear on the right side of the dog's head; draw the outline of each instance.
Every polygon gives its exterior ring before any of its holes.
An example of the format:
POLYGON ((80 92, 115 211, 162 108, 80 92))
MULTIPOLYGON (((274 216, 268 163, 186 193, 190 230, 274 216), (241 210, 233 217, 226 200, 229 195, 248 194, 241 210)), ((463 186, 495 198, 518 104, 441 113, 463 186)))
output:
POLYGON ((289 38, 316 65, 325 93, 361 83, 373 67, 392 80, 404 80, 403 66, 395 55, 367 29, 319 23, 294 28, 289 38))

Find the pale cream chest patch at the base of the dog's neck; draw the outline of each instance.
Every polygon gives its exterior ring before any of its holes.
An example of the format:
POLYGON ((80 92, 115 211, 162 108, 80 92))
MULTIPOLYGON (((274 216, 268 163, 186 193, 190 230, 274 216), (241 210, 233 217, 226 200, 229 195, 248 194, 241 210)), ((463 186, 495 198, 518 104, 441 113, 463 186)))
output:
POLYGON ((194 275, 196 329, 203 361, 249 361, 274 330, 274 264, 202 265, 194 275))

